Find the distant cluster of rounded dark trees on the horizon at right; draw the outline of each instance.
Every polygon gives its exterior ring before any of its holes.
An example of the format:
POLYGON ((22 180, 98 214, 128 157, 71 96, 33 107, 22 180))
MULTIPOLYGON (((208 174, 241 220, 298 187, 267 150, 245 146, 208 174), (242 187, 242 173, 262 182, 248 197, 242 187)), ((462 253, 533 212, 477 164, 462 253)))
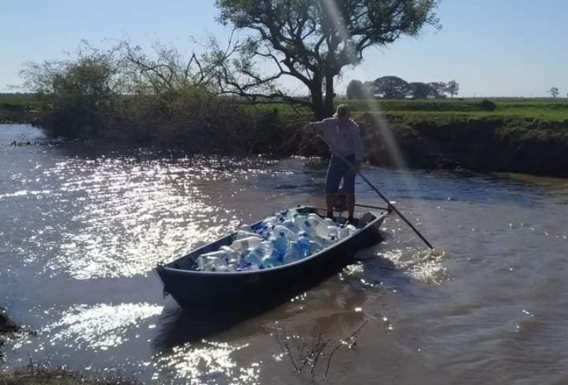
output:
POLYGON ((347 85, 348 99, 441 99, 454 97, 459 92, 459 83, 449 82, 407 82, 397 76, 383 76, 376 80, 361 82, 351 80, 347 85))

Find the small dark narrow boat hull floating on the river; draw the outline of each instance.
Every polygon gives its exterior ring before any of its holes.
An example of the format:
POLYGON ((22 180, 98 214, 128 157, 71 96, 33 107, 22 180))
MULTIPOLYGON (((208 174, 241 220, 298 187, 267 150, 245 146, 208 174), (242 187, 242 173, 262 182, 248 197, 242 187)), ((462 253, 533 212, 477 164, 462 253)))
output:
MULTIPOLYGON (((324 217, 324 210, 316 207, 295 209, 324 217)), ((229 234, 175 261, 159 264, 155 271, 163 282, 164 293, 171 294, 182 308, 239 305, 266 297, 290 298, 293 293, 300 293, 340 271, 353 260, 359 249, 375 244, 381 237, 379 227, 386 215, 387 212, 366 212, 358 218, 356 231, 349 237, 290 264, 252 271, 192 270, 198 256, 231 244, 235 234, 229 234)), ((252 224, 251 228, 259 226, 261 221, 252 224)))

